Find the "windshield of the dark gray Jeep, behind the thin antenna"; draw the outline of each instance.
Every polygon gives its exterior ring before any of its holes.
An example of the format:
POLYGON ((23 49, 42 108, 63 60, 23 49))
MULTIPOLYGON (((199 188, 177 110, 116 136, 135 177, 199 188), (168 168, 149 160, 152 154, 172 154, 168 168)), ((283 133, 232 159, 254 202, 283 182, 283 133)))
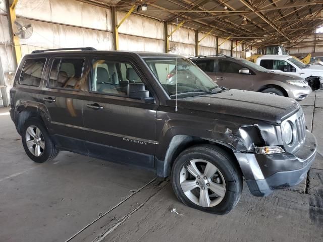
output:
POLYGON ((176 79, 178 98, 183 94, 186 94, 185 97, 196 96, 225 89, 215 84, 187 58, 178 57, 177 66, 176 57, 146 57, 144 60, 171 98, 176 94, 176 79))

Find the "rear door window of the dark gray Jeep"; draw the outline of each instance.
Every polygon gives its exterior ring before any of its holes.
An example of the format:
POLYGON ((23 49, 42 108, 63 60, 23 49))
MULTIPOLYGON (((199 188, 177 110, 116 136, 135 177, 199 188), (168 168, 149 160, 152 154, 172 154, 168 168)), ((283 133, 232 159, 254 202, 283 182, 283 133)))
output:
POLYGON ((48 87, 80 89, 84 59, 59 58, 51 65, 48 87))

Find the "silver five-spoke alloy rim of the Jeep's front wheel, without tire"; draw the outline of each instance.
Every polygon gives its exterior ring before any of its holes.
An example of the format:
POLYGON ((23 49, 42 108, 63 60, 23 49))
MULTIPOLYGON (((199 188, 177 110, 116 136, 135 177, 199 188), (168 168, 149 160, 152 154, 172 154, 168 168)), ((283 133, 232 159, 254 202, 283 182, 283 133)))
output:
POLYGON ((190 160, 182 167, 180 185, 186 197, 201 207, 218 205, 226 194, 222 173, 211 162, 203 159, 190 160))

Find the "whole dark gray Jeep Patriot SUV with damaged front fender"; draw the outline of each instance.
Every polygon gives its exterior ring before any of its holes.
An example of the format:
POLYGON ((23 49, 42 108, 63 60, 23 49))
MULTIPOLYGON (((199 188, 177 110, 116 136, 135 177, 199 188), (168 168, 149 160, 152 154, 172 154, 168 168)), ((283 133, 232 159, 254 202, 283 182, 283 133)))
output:
POLYGON ((255 196, 300 183, 316 154, 295 100, 225 89, 174 54, 33 51, 10 97, 35 162, 66 150, 154 170, 171 175, 180 201, 211 213, 236 206, 243 177, 255 196), (190 78, 169 84, 174 69, 190 78))

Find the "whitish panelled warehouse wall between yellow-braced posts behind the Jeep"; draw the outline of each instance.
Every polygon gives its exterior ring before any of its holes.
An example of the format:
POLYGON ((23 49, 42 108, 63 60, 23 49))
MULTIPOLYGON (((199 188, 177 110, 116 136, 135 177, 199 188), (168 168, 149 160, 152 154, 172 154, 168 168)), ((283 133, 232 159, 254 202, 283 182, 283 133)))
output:
MULTIPOLYGON (((0 56, 8 90, 13 84, 16 70, 13 42, 9 31, 5 1, 0 3, 0 56)), ((117 21, 125 16, 116 12, 117 21)), ((22 54, 36 49, 94 47, 99 50, 114 49, 112 12, 110 8, 98 7, 76 0, 19 0, 16 6, 17 19, 26 18, 33 26, 33 34, 28 39, 20 39, 22 54)), ((168 25, 170 34, 176 25, 168 25)), ((205 33, 199 33, 202 39, 205 33)), ((138 51, 165 51, 164 23, 130 15, 119 28, 119 49, 138 51)), ((180 27, 169 38, 169 46, 177 47, 178 53, 194 56, 195 31, 180 27), (177 45, 177 46, 176 46, 177 45)), ((219 38, 219 43, 224 39, 219 38)), ((220 50, 230 55, 230 40, 225 41, 220 50)), ((240 46, 241 47, 241 46, 240 46)), ((208 35, 199 44, 200 55, 216 54, 216 36, 208 35)), ((234 56, 241 56, 237 47, 234 56)))

